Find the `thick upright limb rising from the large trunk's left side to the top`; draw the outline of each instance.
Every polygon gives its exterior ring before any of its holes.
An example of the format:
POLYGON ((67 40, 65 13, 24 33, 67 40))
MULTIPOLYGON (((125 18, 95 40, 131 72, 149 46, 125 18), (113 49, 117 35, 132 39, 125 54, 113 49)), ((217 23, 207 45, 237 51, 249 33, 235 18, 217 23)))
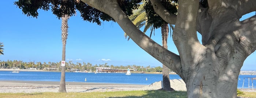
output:
POLYGON ((193 70, 200 56, 204 55, 205 47, 200 44, 196 34, 196 20, 199 0, 179 1, 177 23, 173 31, 173 40, 178 48, 182 69, 193 70))

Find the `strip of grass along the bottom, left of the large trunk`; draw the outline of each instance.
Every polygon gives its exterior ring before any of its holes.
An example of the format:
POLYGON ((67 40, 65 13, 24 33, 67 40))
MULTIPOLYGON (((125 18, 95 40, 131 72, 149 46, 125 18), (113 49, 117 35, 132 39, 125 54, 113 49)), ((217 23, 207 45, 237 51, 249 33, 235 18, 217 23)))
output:
POLYGON ((0 93, 0 98, 187 98, 185 91, 113 91, 91 93, 0 93))

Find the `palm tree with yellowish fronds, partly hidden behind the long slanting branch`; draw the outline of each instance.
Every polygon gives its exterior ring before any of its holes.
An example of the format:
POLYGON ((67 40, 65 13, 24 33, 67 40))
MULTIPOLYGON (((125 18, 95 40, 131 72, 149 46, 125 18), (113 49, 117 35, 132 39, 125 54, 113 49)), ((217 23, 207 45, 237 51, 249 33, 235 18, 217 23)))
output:
MULTIPOLYGON (((146 12, 144 10, 144 4, 145 4, 145 0, 142 1, 142 3, 140 4, 140 6, 138 7, 138 9, 133 11, 133 15, 129 16, 130 20, 133 22, 133 24, 135 24, 139 29, 143 26, 144 30, 143 32, 145 33, 146 30, 148 30, 151 27, 151 33, 150 36, 152 35, 152 31, 155 29, 153 27, 153 24, 148 23, 148 18, 146 16, 146 12)), ((170 25, 172 26, 172 25, 170 25)), ((171 27, 171 29, 173 29, 173 27, 171 27)), ((161 26, 161 32, 162 32, 162 44, 163 47, 167 49, 167 38, 168 38, 168 33, 169 33, 169 27, 168 24, 162 24, 161 26)), ((127 38, 127 35, 125 33, 125 38, 127 38)), ((128 40, 130 38, 128 37, 128 40)), ((171 88, 170 85, 170 77, 169 77, 169 68, 166 67, 165 65, 163 65, 163 90, 166 91, 172 91, 174 89, 171 88)))

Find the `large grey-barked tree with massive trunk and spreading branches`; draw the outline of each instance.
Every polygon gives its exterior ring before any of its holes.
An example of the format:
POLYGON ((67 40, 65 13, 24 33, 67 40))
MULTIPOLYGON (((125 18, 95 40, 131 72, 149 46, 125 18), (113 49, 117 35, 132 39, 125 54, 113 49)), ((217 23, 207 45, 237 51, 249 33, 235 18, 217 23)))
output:
POLYGON ((175 71, 189 98, 236 98, 240 69, 256 49, 256 16, 239 19, 256 10, 256 0, 179 0, 177 15, 151 0, 155 12, 175 24, 172 37, 179 55, 137 29, 118 0, 81 1, 110 15, 138 46, 175 71))

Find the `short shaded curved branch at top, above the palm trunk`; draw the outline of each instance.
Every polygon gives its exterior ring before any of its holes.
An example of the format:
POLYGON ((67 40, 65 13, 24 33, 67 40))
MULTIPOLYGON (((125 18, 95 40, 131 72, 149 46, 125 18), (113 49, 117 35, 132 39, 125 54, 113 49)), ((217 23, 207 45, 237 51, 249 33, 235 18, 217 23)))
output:
POLYGON ((164 6, 160 2, 160 0, 150 0, 150 1, 151 1, 151 4, 153 5, 153 8, 154 8, 155 12, 161 18, 163 18, 164 21, 166 21, 167 23, 170 23, 170 24, 175 24, 176 23, 177 15, 172 14, 171 12, 166 10, 166 8, 164 8, 164 6))

